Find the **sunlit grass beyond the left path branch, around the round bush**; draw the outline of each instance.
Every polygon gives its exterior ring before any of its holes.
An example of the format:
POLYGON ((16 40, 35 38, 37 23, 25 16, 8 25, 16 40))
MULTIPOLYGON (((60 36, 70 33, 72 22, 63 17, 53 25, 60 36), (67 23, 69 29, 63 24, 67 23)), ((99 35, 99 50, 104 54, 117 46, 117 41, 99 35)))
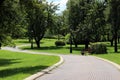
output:
MULTIPOLYGON (((22 46, 21 49, 55 54, 70 54, 70 45, 66 44, 66 46, 57 47, 55 46, 55 41, 57 41, 57 39, 42 39, 40 48, 37 48, 36 44, 34 43, 34 49, 31 49, 30 46, 22 46)), ((75 48, 74 45, 72 47, 73 47, 72 54, 80 54, 80 51, 84 48, 84 45, 78 45, 78 48, 75 48)))

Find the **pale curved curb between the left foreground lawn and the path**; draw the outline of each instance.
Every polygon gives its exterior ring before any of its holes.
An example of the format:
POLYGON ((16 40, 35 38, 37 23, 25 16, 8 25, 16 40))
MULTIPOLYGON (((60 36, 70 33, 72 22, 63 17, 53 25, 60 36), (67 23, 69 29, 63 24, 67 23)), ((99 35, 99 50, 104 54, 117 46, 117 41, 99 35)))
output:
POLYGON ((62 56, 59 56, 59 57, 60 57, 60 61, 58 63, 56 63, 53 66, 50 66, 50 67, 40 71, 40 72, 37 72, 37 73, 25 78, 24 80, 35 80, 35 79, 47 74, 48 72, 52 71, 53 69, 59 67, 61 64, 64 63, 63 57, 62 56))

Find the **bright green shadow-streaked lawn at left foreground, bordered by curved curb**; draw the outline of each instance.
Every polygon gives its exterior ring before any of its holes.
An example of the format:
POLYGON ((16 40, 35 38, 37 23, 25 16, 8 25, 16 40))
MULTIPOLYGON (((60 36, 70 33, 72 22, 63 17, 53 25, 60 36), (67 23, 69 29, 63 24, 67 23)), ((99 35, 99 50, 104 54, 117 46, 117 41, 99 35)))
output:
POLYGON ((23 80, 59 61, 57 56, 0 50, 0 80, 23 80))

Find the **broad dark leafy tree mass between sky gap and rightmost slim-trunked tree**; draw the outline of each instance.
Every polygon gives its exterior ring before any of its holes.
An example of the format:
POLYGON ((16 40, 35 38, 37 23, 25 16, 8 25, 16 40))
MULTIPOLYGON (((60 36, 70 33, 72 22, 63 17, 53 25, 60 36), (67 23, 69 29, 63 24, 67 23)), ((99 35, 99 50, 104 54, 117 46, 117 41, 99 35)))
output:
POLYGON ((82 41, 88 48, 90 41, 101 38, 100 31, 104 30, 105 25, 105 4, 97 0, 69 0, 69 5, 69 25, 74 44, 77 47, 77 42, 82 41))

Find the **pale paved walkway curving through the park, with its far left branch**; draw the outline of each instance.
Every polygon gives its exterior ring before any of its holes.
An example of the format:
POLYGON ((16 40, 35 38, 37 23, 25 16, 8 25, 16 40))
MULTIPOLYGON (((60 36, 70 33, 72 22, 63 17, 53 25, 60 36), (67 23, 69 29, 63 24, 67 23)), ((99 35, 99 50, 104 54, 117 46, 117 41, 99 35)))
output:
MULTIPOLYGON (((12 48, 4 49, 22 51, 12 48)), ((28 53, 28 51, 22 52, 28 53)), ((30 53, 38 54, 38 52, 30 53)), ((120 80, 120 70, 110 63, 96 59, 93 56, 61 56, 65 59, 61 66, 36 80, 120 80)))

